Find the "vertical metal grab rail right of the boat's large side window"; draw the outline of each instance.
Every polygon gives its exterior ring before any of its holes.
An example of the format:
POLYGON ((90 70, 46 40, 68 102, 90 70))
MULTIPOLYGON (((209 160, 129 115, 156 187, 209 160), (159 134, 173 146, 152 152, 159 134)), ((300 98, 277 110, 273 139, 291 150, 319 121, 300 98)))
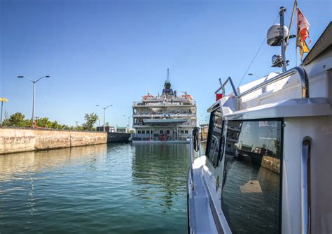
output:
POLYGON ((309 138, 302 143, 301 156, 301 233, 310 233, 310 145, 309 138))

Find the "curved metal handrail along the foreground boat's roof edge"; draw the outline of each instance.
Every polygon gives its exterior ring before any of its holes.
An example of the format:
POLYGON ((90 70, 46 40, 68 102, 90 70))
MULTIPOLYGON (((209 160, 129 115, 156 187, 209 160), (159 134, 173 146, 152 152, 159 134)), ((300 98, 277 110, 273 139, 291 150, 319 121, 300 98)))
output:
POLYGON ((277 82, 279 80, 282 80, 284 78, 288 78, 291 75, 298 74, 300 76, 300 83, 302 87, 302 98, 309 98, 309 82, 307 79, 307 73, 305 72, 305 69, 296 66, 294 68, 291 68, 289 71, 286 71, 282 74, 279 74, 275 76, 274 78, 271 78, 270 80, 266 80, 262 82, 259 85, 256 85, 255 87, 252 87, 251 89, 248 89, 247 91, 243 92, 242 94, 237 95, 237 98, 242 98, 242 96, 246 96, 247 94, 250 94, 251 92, 255 92, 258 89, 261 89, 267 85, 270 85, 274 82, 277 82))

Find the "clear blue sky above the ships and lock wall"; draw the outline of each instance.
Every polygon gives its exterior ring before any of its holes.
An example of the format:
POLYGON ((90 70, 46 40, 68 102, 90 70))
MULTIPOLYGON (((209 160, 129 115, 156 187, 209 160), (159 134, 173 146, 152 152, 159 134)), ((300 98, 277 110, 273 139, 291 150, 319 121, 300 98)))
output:
MULTIPOLYGON (((126 126, 132 101, 161 93, 170 68, 172 88, 193 96, 198 122, 205 122, 219 78, 239 84, 280 6, 288 25, 293 1, 0 0, 4 112, 31 118, 32 82, 17 76, 50 75, 36 83, 35 117, 74 126, 85 113, 102 119, 95 105, 113 105, 106 122, 126 126)), ((332 1, 298 6, 310 22, 312 47, 332 20, 332 1)), ((280 71, 270 67, 273 54, 280 48, 264 42, 248 73, 280 71)), ((286 58, 296 66, 295 39, 286 58)), ((246 75, 242 85, 252 80, 246 75)))

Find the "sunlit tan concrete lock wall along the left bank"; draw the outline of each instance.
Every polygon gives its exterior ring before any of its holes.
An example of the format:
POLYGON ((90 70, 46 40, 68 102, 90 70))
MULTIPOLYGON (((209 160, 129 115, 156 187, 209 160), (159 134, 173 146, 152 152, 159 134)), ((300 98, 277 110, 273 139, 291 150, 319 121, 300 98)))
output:
POLYGON ((0 129, 0 154, 57 149, 107 142, 107 133, 32 129, 0 129))

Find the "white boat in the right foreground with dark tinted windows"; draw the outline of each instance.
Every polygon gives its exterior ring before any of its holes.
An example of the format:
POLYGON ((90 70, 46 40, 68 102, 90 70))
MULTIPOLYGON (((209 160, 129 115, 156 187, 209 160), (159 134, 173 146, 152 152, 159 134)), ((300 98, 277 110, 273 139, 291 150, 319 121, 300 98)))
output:
POLYGON ((332 233, 332 23, 300 66, 228 82, 195 160, 192 132, 188 233, 332 233))

